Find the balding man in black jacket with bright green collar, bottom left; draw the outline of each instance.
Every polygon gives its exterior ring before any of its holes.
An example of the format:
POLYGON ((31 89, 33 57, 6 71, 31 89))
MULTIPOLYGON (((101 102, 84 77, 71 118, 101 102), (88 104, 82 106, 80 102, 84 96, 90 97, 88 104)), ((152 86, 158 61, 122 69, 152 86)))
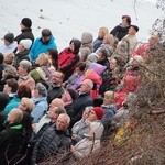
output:
POLYGON ((23 127, 20 124, 23 118, 23 112, 14 108, 8 114, 9 125, 0 132, 0 164, 8 165, 15 164, 13 161, 19 161, 19 151, 21 150, 21 144, 23 144, 23 127), (13 158, 15 157, 15 158, 13 158), (10 161, 10 162, 8 162, 10 161))

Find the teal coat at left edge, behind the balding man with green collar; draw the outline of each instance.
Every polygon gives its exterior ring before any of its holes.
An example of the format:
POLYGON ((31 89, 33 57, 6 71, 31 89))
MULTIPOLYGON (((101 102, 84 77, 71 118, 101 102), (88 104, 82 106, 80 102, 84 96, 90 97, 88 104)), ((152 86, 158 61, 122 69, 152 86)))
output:
POLYGON ((4 117, 7 119, 8 113, 13 109, 18 108, 21 102, 21 99, 18 96, 14 96, 12 100, 9 101, 9 103, 4 108, 4 117))

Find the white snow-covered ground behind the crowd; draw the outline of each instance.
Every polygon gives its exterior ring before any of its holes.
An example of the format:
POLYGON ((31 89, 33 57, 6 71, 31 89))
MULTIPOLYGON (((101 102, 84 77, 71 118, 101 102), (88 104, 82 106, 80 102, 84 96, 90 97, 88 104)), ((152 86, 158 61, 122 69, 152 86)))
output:
POLYGON ((163 15, 153 1, 138 0, 134 9, 134 0, 0 0, 0 37, 8 32, 16 36, 21 19, 29 16, 35 37, 48 28, 62 50, 85 31, 97 37, 100 26, 112 30, 121 22, 121 15, 129 14, 132 24, 140 28, 139 40, 146 41, 153 22, 163 15))

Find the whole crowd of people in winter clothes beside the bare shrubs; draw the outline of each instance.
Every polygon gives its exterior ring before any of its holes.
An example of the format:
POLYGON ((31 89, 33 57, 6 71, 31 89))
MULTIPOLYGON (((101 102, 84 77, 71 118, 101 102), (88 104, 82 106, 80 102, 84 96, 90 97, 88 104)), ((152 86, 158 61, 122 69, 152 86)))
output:
POLYGON ((64 161, 76 161, 122 125, 160 36, 139 44, 139 28, 121 19, 112 31, 100 28, 96 40, 90 32, 72 38, 59 53, 50 29, 34 37, 30 18, 21 20, 20 35, 3 36, 0 164, 34 165, 66 153, 64 161))

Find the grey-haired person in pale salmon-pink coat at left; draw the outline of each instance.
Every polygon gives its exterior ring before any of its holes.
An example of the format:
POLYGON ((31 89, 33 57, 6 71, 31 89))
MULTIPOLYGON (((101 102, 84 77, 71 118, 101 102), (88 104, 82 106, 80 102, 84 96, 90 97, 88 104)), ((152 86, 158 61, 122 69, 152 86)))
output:
POLYGON ((18 67, 18 73, 20 75, 18 82, 19 82, 19 86, 28 85, 31 88, 31 90, 33 90, 35 87, 35 81, 29 74, 31 70, 31 66, 32 66, 31 62, 26 59, 23 59, 20 62, 20 65, 18 67))

